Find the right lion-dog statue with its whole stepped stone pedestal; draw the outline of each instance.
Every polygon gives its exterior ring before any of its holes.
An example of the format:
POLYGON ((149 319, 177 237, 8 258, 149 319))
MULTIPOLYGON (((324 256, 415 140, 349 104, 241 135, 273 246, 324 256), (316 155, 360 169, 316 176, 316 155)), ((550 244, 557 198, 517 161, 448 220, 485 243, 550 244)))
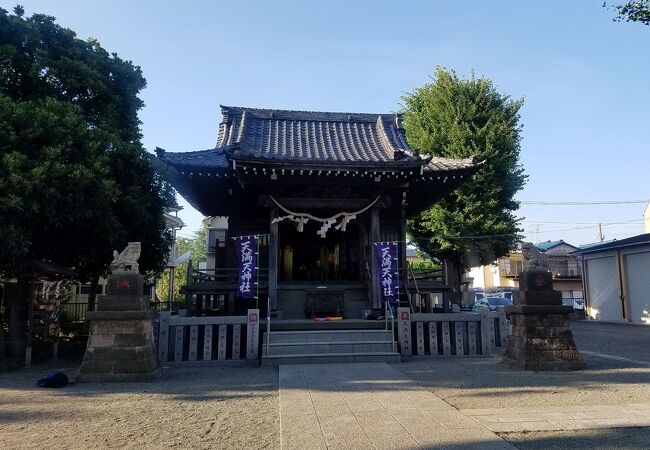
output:
POLYGON ((553 290, 546 255, 531 243, 522 244, 524 271, 519 274, 519 297, 506 306, 512 335, 503 360, 524 370, 585 369, 569 327, 571 306, 562 305, 562 293, 553 290))

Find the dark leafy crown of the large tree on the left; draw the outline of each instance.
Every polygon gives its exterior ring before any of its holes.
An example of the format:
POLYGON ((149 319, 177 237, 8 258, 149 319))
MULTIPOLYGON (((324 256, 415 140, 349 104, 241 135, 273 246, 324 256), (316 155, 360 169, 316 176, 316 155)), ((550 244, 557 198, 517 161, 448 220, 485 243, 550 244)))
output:
POLYGON ((96 282, 129 241, 142 270, 163 269, 173 192, 140 142, 145 86, 96 40, 0 9, 0 275, 47 261, 96 282))

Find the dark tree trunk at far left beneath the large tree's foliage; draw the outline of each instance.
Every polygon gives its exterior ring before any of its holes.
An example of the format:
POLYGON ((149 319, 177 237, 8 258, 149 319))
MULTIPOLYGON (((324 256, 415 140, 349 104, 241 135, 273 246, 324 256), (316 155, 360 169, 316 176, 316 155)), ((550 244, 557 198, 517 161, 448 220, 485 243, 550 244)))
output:
POLYGON ((15 295, 10 299, 9 311, 9 345, 8 355, 12 360, 11 365, 22 367, 25 364, 25 348, 27 347, 27 331, 29 329, 28 307, 31 306, 30 279, 26 276, 18 277, 15 295))

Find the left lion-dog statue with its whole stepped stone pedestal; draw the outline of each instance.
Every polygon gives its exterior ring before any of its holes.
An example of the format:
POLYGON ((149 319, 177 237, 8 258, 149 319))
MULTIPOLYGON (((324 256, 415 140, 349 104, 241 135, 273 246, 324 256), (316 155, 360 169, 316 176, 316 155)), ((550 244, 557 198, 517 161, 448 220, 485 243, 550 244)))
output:
POLYGON ((76 381, 147 381, 160 374, 139 257, 139 242, 113 252, 106 294, 97 296, 96 310, 87 314, 90 336, 76 381))

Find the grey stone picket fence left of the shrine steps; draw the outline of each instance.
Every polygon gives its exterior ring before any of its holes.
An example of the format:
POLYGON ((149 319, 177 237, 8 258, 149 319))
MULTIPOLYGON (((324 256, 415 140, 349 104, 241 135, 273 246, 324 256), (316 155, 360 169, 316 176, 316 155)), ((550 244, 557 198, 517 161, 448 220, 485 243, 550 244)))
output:
POLYGON ((161 311, 158 359, 162 363, 256 363, 259 357, 258 309, 246 316, 182 317, 161 311))

